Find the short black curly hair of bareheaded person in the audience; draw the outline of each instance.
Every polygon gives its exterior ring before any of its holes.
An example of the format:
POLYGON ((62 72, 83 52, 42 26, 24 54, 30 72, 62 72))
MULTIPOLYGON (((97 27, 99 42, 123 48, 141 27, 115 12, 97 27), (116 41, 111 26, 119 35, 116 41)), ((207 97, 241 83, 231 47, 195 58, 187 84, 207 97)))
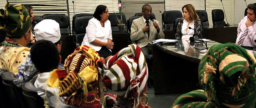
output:
POLYGON ((30 49, 32 63, 40 73, 57 69, 60 62, 60 54, 54 43, 48 40, 36 41, 30 49))

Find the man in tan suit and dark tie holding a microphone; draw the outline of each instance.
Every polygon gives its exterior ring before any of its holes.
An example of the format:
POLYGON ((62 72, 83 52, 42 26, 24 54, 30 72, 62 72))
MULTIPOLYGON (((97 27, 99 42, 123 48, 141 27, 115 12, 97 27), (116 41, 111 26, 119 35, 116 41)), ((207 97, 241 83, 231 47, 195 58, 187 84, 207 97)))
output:
MULTIPOLYGON (((143 16, 133 20, 131 26, 131 40, 141 48, 142 53, 148 64, 152 64, 149 54, 152 54, 152 41, 157 39, 164 39, 164 33, 160 29, 159 22, 157 20, 151 21, 152 8, 150 5, 145 4, 142 6, 143 16), (149 35, 149 36, 148 36, 149 35)), ((149 65, 149 69, 150 69, 149 65)), ((152 88, 153 85, 153 73, 148 71, 148 87, 152 88), (152 84, 152 85, 151 85, 152 84)))

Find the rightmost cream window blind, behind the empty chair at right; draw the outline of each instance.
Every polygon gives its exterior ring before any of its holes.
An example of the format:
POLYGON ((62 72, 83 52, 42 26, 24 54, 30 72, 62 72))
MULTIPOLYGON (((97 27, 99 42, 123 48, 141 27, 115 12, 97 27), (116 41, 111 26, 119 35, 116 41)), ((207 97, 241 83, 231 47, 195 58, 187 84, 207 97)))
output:
MULTIPOLYGON (((226 17, 224 21, 226 23, 228 21, 230 25, 234 24, 234 0, 222 0, 222 2, 226 12, 226 17), (227 18, 227 21, 226 21, 226 18, 227 18)), ((211 27, 213 26, 211 11, 214 9, 223 10, 223 7, 220 0, 206 0, 205 3, 206 3, 206 12, 208 14, 209 26, 211 27)))

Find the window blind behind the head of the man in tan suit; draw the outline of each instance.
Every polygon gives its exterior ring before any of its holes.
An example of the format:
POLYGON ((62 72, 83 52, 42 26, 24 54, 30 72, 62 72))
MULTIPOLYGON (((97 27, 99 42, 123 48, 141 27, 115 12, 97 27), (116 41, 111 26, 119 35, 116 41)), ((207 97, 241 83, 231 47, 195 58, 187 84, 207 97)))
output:
POLYGON ((164 12, 164 0, 122 0, 122 3, 124 3, 123 6, 125 7, 122 11, 125 14, 126 20, 133 17, 136 13, 141 13, 143 5, 151 5, 152 12, 155 14, 156 20, 159 21, 159 26, 162 28, 162 16, 159 11, 164 12))

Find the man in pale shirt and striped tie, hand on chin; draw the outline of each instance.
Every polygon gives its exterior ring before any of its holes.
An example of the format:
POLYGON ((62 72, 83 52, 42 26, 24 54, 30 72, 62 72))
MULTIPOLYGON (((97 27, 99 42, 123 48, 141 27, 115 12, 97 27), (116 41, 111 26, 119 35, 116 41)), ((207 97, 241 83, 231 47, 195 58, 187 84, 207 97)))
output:
POLYGON ((256 3, 247 6, 247 16, 245 16, 237 28, 236 44, 239 46, 255 47, 256 42, 256 3))

